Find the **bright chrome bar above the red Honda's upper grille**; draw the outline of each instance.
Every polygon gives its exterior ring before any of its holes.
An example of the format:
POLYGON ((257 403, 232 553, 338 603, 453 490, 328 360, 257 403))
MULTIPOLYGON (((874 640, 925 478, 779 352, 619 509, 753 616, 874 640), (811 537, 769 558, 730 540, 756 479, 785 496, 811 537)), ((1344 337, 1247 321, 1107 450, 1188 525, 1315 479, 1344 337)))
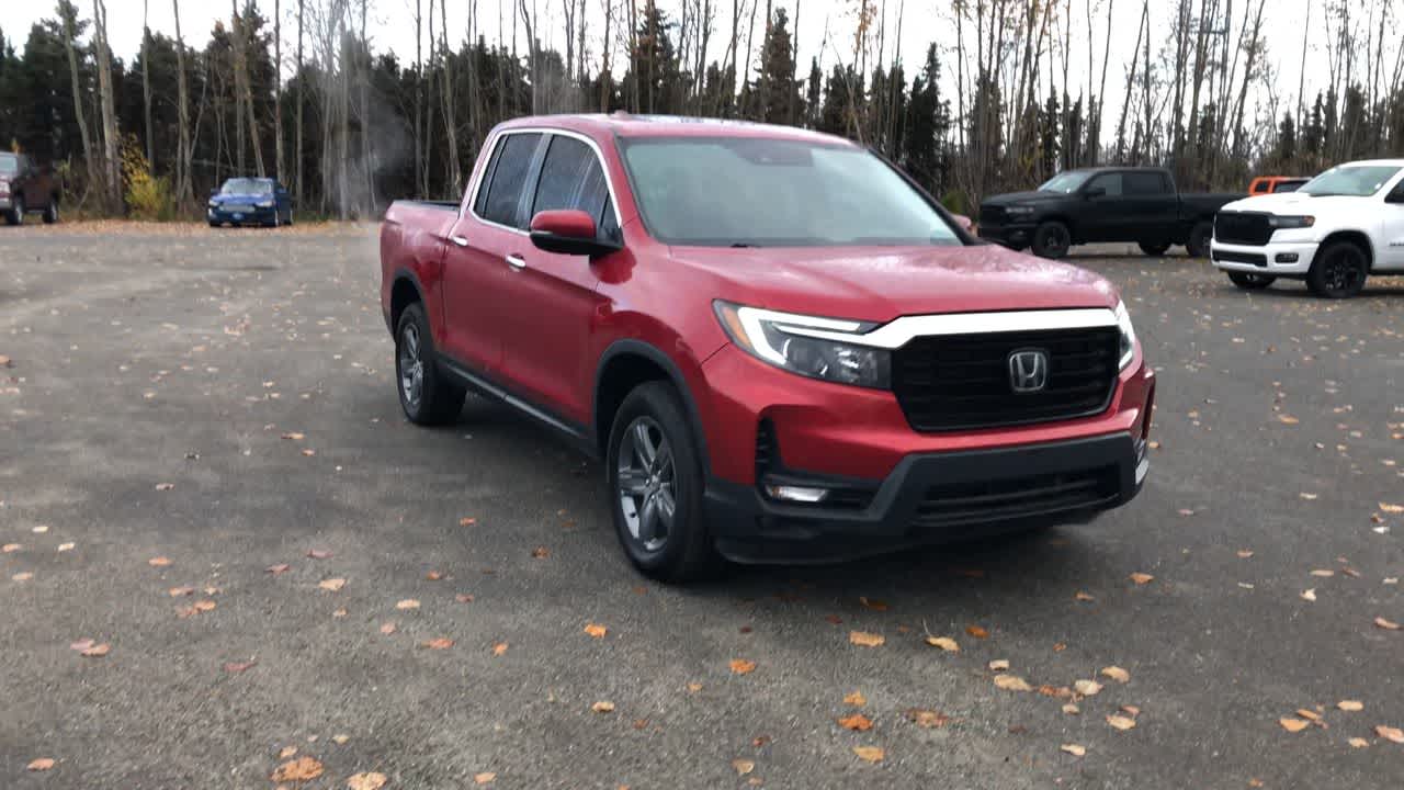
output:
POLYGON ((900 349, 917 337, 929 336, 1099 329, 1104 326, 1115 328, 1118 325, 1116 313, 1109 308, 904 315, 865 333, 830 332, 820 328, 793 325, 786 320, 788 318, 792 320, 795 318, 789 316, 789 313, 772 313, 762 318, 775 322, 790 335, 887 350, 900 349))

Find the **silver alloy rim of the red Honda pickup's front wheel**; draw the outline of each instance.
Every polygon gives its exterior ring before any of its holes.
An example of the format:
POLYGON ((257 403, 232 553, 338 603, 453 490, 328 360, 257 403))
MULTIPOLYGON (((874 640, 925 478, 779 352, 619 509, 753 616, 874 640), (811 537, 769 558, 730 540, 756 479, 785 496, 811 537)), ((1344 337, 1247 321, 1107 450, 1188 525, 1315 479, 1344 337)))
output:
POLYGON ((658 551, 673 533, 678 500, 673 447, 653 417, 629 423, 618 472, 619 507, 629 534, 644 551, 658 551))

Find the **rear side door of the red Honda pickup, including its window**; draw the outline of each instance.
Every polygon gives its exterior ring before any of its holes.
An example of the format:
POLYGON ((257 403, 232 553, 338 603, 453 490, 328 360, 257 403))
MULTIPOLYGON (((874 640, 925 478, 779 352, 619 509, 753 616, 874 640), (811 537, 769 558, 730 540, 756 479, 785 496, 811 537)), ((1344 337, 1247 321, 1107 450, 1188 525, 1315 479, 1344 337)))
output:
POLYGON ((444 337, 439 347, 468 373, 491 375, 501 363, 503 320, 515 309, 503 288, 508 260, 531 246, 522 197, 538 167, 541 132, 500 134, 468 209, 449 231, 444 256, 444 337))

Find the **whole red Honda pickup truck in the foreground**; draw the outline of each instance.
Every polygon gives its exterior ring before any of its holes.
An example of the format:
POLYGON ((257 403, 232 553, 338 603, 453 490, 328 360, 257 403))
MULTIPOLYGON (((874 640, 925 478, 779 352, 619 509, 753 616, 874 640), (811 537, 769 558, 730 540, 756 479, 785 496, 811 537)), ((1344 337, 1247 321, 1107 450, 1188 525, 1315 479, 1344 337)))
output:
POLYGON ((380 266, 410 422, 470 389, 564 434, 660 579, 1087 522, 1148 470, 1116 290, 844 139, 521 118, 462 207, 390 207, 380 266))

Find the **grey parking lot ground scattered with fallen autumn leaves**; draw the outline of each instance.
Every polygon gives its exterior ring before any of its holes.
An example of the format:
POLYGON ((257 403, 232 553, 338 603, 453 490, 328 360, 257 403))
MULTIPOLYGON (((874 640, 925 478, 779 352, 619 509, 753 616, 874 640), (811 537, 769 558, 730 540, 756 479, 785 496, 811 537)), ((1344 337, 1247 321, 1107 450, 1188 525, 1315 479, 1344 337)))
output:
POLYGON ((373 228, 0 229, 0 787, 1404 786, 1404 280, 1125 252, 1129 507, 671 589, 595 464, 403 420, 373 228))

